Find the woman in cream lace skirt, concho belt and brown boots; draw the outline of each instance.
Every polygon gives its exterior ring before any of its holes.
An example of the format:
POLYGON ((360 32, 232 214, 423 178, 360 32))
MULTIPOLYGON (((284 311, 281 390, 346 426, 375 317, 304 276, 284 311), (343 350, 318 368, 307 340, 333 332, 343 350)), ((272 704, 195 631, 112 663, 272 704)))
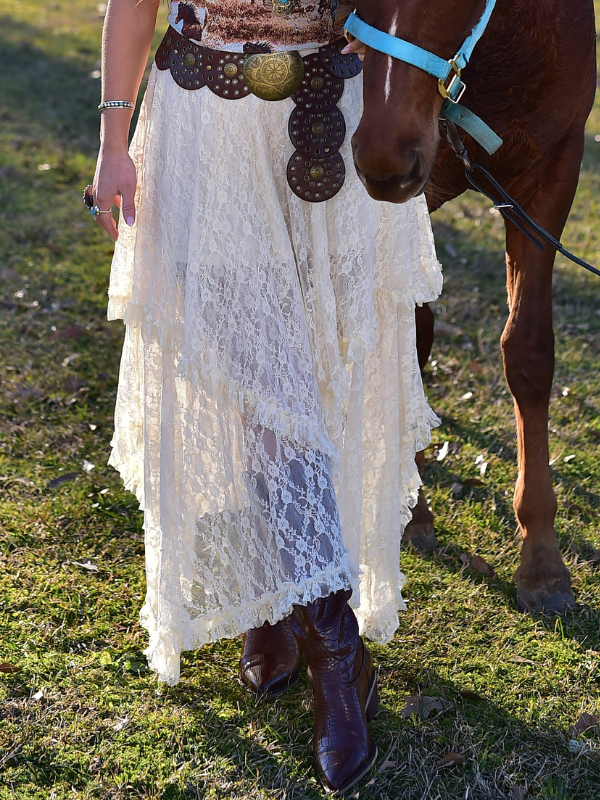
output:
POLYGON ((157 9, 109 2, 86 194, 116 240, 111 464, 144 509, 146 653, 173 684, 182 650, 244 633, 241 680, 272 695, 301 652, 317 768, 344 791, 377 754, 359 625, 380 642, 398 626, 436 423, 414 329, 441 288, 427 209, 375 203, 352 168, 343 0, 171 2, 128 153, 157 9))

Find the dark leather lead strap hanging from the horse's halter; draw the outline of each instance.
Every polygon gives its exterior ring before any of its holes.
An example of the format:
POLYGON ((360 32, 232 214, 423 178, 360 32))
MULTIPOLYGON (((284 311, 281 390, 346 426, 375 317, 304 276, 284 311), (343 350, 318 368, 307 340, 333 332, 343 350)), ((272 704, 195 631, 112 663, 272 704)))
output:
POLYGON ((492 175, 490 175, 485 167, 482 167, 480 164, 476 164, 475 162, 471 161, 469 154, 467 153, 467 148, 464 146, 462 139, 456 130, 456 125, 453 122, 450 120, 444 120, 440 124, 444 130, 444 133, 446 134, 446 138, 448 139, 450 147, 454 151, 454 154, 460 159, 460 161, 462 161, 462 164, 465 168, 465 176, 472 189, 475 189, 476 192, 480 192, 482 195, 487 197, 488 200, 491 200, 491 202, 494 204, 494 208, 497 208, 502 216, 512 222, 512 224, 515 225, 521 231, 521 233, 527 237, 527 239, 529 239, 529 241, 532 242, 532 244, 534 244, 539 250, 544 250, 543 242, 546 242, 546 244, 549 244, 557 252, 565 256, 565 258, 568 258, 570 261, 573 261, 580 267, 587 269, 588 272, 593 272, 594 275, 600 276, 600 270, 596 269, 596 267, 593 267, 591 264, 588 264, 587 261, 577 258, 577 256, 573 255, 573 253, 570 253, 563 247, 558 239, 556 239, 551 233, 548 233, 548 231, 542 228, 541 225, 538 225, 537 222, 531 219, 525 209, 522 208, 519 203, 517 203, 517 201, 502 188, 502 186, 500 186, 498 181, 492 175), (485 180, 493 187, 492 190, 484 189, 483 186, 481 186, 475 177, 477 173, 483 175, 485 180), (493 192, 496 193, 496 196, 494 196, 493 192), (500 200, 498 200, 498 197, 500 197, 500 200))

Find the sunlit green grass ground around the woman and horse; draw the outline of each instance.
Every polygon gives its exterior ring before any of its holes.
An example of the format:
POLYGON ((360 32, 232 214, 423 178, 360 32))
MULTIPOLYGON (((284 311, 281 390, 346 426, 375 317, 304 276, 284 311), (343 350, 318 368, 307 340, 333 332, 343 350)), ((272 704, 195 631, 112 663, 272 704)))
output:
MULTIPOLYGON (((0 673, 0 800, 319 798, 305 678, 256 702, 235 679, 239 641, 187 653, 174 688, 146 669, 141 515, 106 466, 123 329, 105 321, 111 245, 80 202, 96 149, 101 18, 83 0, 0 0, 0 18, 0 662, 19 668, 0 673)), ((564 236, 595 264, 598 134, 597 108, 564 236)), ((534 619, 517 613, 512 583, 501 220, 464 196, 434 222, 447 287, 426 383, 443 417, 435 442, 452 445, 426 465, 440 548, 403 556, 409 611, 395 640, 373 648, 380 757, 358 796, 597 798, 598 729, 569 728, 600 712, 589 561, 600 548, 600 285, 559 260, 551 455, 578 606, 534 619), (480 477, 480 455, 485 485, 457 493, 480 477), (475 552, 494 578, 465 565, 475 552), (419 693, 445 709, 404 719, 405 697, 419 693), (438 766, 449 752, 464 763, 438 766)))

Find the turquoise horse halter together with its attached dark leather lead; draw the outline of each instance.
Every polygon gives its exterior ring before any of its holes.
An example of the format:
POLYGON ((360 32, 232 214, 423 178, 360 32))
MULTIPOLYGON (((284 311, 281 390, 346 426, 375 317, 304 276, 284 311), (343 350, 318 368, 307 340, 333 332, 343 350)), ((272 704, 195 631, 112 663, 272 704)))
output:
POLYGON ((437 78, 438 90, 444 98, 440 111, 440 123, 452 150, 462 161, 469 186, 491 200, 494 208, 498 209, 506 220, 512 222, 539 250, 544 249, 544 245, 540 241, 543 240, 575 264, 584 267, 589 272, 593 272, 594 275, 600 276, 600 270, 570 253, 558 239, 548 233, 541 225, 538 225, 525 209, 500 186, 485 167, 470 160, 456 130, 456 126, 459 125, 489 155, 495 153, 502 145, 502 139, 480 117, 459 103, 467 88, 461 77, 462 70, 468 64, 475 45, 481 39, 495 5, 496 0, 486 0, 485 9, 479 22, 465 39, 454 58, 448 61, 411 42, 407 42, 405 39, 400 39, 390 33, 374 28, 372 25, 368 25, 355 12, 348 17, 345 28, 348 33, 359 39, 363 44, 373 48, 373 50, 418 67, 437 78), (483 175, 492 189, 482 187, 475 178, 475 173, 483 175))

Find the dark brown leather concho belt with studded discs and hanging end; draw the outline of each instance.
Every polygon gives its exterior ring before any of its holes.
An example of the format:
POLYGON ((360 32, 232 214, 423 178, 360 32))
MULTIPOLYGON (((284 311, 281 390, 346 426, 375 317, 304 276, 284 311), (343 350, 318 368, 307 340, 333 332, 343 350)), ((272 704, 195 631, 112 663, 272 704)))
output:
POLYGON ((156 51, 158 69, 171 71, 183 89, 204 86, 226 100, 254 94, 263 100, 291 97, 296 107, 288 124, 295 151, 287 167, 291 190, 310 203, 334 197, 346 167, 340 148, 346 123, 337 103, 344 81, 362 70, 354 53, 342 55, 340 39, 302 58, 296 51, 231 53, 209 50, 169 28, 156 51))

